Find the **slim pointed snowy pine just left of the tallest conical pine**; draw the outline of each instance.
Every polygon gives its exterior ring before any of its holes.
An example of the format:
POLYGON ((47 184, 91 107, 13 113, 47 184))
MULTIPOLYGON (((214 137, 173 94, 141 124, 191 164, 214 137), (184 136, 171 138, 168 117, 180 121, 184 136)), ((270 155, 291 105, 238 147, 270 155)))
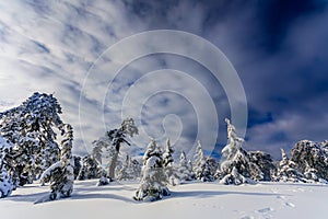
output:
POLYGON ((208 158, 206 158, 203 154, 200 141, 198 141, 198 145, 196 147, 196 154, 194 155, 194 172, 196 178, 202 182, 214 181, 210 163, 208 162, 208 158))

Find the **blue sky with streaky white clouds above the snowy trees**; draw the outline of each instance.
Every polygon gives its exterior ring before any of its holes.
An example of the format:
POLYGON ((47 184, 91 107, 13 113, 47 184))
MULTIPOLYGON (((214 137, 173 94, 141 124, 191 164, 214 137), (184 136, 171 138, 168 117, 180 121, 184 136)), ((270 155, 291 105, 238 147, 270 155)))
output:
MULTIPOLYGON (((247 99, 245 148, 279 158, 279 148, 328 136, 327 4, 326 0, 1 1, 0 110, 19 105, 34 91, 55 92, 63 120, 75 129, 74 153, 85 154, 92 140, 119 125, 121 105, 129 103, 126 114, 140 116, 142 129, 130 150, 142 151, 148 136, 160 141, 169 136, 178 150, 188 151, 201 128, 198 137, 204 148, 219 151, 226 143, 224 117, 231 117, 231 105, 224 84, 202 65, 174 54, 154 54, 125 65, 109 80, 116 65, 107 56, 113 45, 147 31, 184 31, 220 48, 237 71, 247 99)), ((130 50, 144 47, 132 45, 130 50)), ((200 53, 192 44, 188 48, 200 53)), ((115 55, 121 56, 119 50, 115 55)))

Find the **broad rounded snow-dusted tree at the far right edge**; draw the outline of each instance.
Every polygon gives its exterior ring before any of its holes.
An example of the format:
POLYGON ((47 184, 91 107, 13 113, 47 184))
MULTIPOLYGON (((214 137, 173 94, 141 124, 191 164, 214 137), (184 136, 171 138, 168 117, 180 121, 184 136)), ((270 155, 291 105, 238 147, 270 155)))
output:
POLYGON ((308 181, 327 183, 328 151, 325 150, 325 141, 298 141, 291 150, 291 160, 308 181))

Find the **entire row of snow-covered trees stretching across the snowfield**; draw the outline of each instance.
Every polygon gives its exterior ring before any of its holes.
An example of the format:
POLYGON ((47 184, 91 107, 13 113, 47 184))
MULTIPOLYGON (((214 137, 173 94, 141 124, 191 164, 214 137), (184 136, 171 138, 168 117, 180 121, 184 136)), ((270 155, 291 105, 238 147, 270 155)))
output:
POLYGON ((167 139, 164 147, 151 139, 142 159, 120 152, 138 135, 132 118, 122 120, 93 141, 86 157, 72 155, 73 128, 61 118, 61 106, 52 94, 34 93, 22 105, 0 113, 0 197, 16 187, 39 181, 50 184, 50 199, 68 197, 74 180, 98 178, 98 185, 112 181, 140 182, 136 200, 155 200, 169 195, 167 186, 188 181, 222 184, 272 182, 327 183, 328 141, 298 141, 290 158, 281 150, 280 161, 263 151, 246 151, 244 139, 226 119, 227 145, 220 161, 206 157, 198 141, 192 158, 175 151, 167 139), (61 141, 58 142, 60 135, 61 141), (179 159, 174 160, 174 152, 179 159), (103 163, 106 157, 108 163, 103 163))

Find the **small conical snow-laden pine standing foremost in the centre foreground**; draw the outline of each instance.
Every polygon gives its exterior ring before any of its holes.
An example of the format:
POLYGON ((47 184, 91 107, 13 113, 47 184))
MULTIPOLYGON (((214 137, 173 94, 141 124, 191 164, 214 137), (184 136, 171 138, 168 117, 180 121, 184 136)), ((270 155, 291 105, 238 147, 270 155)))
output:
POLYGON ((151 139, 142 159, 141 182, 133 196, 136 200, 153 201, 169 195, 169 191, 166 187, 167 176, 164 172, 162 155, 155 139, 151 139))

